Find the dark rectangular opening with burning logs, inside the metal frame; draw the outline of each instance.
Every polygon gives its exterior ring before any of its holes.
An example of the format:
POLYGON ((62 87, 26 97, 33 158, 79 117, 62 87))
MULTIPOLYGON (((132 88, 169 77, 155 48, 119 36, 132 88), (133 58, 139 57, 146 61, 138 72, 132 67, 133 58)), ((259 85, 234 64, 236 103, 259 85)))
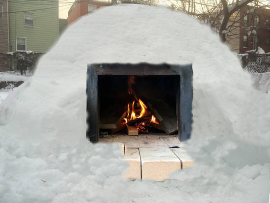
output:
POLYGON ((98 76, 100 137, 177 134, 179 75, 98 76))

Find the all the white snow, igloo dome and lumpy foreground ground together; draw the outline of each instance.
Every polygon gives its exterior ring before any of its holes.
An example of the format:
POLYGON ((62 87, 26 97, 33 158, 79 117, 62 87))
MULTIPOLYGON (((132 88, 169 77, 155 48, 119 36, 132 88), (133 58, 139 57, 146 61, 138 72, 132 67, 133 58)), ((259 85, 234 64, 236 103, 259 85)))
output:
POLYGON ((66 29, 0 105, 2 203, 268 203, 270 94, 210 28, 181 12, 122 4, 66 29), (117 144, 86 131, 87 63, 193 63, 195 160, 163 182, 128 181, 117 144))

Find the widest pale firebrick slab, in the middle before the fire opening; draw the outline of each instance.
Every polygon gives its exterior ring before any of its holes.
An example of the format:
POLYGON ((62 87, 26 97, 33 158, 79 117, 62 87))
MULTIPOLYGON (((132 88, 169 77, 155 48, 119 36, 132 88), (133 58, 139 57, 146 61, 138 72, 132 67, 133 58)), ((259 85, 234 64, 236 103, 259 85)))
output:
POLYGON ((162 181, 176 170, 181 169, 181 162, 167 147, 141 147, 142 179, 162 181))

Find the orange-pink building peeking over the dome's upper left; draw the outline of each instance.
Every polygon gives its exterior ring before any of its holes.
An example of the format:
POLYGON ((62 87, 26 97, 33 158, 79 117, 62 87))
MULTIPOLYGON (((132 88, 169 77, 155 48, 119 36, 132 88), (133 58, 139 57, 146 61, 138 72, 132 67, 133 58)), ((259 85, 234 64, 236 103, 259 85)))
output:
POLYGON ((75 0, 68 11, 68 25, 76 21, 81 16, 87 15, 98 8, 109 5, 111 5, 111 3, 103 1, 86 0, 80 2, 80 0, 75 0))

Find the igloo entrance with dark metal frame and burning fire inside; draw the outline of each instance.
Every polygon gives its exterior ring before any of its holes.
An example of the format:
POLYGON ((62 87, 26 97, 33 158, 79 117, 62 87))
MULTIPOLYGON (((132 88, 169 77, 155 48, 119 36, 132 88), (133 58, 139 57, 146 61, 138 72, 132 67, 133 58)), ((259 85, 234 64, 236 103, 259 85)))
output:
POLYGON ((86 136, 93 143, 104 131, 190 137, 191 64, 89 64, 86 93, 86 136))

